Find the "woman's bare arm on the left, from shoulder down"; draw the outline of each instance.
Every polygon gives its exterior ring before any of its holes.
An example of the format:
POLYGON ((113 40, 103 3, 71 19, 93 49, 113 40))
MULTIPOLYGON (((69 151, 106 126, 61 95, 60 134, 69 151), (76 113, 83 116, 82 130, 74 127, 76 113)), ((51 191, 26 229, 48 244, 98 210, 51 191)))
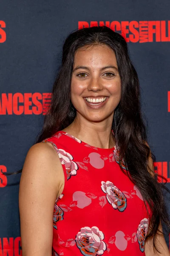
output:
POLYGON ((23 256, 51 256, 54 204, 63 180, 53 146, 33 145, 26 156, 19 190, 23 256))

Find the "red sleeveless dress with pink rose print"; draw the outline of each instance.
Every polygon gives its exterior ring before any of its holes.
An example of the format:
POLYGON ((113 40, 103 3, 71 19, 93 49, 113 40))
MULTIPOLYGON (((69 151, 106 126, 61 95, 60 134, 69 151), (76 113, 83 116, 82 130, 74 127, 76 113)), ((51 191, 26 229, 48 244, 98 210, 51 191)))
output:
POLYGON ((116 146, 96 148, 64 131, 45 142, 57 151, 65 176, 54 205, 52 256, 145 255, 150 218, 119 166, 116 146))

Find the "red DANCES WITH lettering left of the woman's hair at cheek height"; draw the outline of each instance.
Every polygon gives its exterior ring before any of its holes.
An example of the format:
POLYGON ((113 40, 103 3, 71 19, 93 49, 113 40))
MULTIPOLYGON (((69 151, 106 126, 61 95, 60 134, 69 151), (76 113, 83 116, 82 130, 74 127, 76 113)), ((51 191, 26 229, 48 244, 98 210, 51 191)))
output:
POLYGON ((45 115, 52 93, 2 93, 0 115, 45 115))

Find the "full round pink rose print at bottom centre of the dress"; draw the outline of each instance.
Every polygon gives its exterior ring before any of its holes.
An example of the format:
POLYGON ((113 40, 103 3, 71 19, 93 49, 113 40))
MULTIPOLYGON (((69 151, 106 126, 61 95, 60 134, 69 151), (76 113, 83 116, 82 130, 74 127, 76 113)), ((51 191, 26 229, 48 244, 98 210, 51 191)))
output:
POLYGON ((82 227, 76 236, 76 244, 84 256, 102 255, 106 250, 104 234, 98 227, 82 227))

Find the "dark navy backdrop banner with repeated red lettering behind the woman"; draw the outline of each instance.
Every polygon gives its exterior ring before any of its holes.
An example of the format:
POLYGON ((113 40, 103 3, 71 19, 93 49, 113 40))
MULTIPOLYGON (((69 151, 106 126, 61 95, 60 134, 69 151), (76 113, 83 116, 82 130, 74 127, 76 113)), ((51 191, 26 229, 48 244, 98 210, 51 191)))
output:
MULTIPOLYGON (((170 3, 32 1, 0 4, 0 256, 21 256, 20 174, 51 101, 62 44, 75 29, 108 26, 127 41, 138 72, 155 172, 170 189, 170 3)), ((162 182, 162 180, 160 180, 162 182)), ((165 199, 170 210, 168 198, 165 199)), ((43 221, 43 216, 41 216, 43 221)), ((169 247, 169 237, 165 237, 169 247)))

